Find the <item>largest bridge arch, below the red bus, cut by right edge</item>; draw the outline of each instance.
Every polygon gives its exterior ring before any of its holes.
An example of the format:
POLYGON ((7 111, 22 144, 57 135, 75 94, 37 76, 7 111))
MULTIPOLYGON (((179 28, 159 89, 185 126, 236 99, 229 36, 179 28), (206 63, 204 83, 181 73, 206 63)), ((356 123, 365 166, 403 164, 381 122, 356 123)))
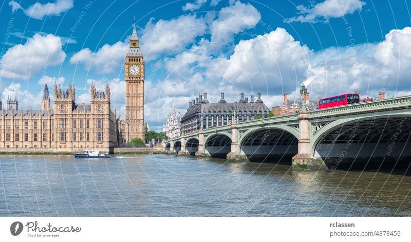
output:
POLYGON ((336 120, 312 136, 311 154, 331 169, 408 166, 410 121, 409 114, 389 112, 336 120))

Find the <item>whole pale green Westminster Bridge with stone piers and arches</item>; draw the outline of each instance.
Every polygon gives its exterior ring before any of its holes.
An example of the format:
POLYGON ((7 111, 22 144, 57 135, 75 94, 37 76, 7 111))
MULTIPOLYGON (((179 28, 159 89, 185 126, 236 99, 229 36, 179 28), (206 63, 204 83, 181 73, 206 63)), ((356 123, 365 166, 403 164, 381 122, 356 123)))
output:
MULTIPOLYGON (((165 141, 168 152, 282 162, 293 169, 411 164, 411 96, 204 129, 165 141)), ((233 119, 234 120, 234 119, 233 119)))

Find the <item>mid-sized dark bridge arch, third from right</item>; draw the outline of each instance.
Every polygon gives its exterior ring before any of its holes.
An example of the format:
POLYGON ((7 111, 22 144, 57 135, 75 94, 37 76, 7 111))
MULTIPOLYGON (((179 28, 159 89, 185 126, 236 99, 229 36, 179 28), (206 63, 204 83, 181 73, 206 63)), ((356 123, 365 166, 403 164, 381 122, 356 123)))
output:
POLYGON ((231 152, 231 134, 221 132, 209 135, 204 139, 204 153, 213 158, 226 159, 231 152))

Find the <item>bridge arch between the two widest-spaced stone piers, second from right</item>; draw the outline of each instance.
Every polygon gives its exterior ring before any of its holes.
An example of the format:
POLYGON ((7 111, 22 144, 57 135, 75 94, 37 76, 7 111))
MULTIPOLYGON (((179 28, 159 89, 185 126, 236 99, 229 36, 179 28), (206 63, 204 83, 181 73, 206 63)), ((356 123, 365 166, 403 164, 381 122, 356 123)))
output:
POLYGON ((239 139, 240 155, 250 161, 291 164, 298 153, 298 131, 285 125, 249 129, 239 139))

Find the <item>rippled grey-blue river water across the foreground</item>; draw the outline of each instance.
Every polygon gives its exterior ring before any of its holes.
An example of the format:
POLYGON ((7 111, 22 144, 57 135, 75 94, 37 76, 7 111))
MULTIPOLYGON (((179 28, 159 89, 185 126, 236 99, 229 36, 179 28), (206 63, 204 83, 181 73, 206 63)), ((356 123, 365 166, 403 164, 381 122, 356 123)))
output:
POLYGON ((166 155, 1 156, 0 216, 409 216, 411 176, 166 155))

